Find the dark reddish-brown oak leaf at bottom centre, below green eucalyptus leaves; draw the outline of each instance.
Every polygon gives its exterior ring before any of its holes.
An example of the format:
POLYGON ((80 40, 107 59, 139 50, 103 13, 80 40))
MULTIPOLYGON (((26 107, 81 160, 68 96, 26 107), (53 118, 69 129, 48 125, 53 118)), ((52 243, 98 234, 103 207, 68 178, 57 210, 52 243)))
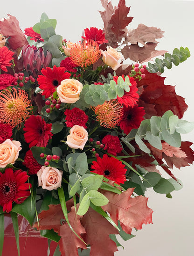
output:
POLYGON ((91 247, 90 256, 114 256, 114 252, 118 249, 109 234, 119 234, 118 230, 92 208, 83 215, 81 223, 86 230, 84 241, 91 247))

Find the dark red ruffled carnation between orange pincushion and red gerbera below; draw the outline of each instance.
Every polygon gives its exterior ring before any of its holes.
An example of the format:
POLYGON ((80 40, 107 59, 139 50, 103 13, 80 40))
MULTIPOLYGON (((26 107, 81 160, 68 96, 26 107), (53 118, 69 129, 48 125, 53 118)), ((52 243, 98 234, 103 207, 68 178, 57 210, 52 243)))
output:
POLYGON ((105 145, 104 150, 107 150, 109 154, 115 156, 119 154, 123 149, 118 136, 112 136, 111 134, 104 136, 102 139, 102 144, 105 145))

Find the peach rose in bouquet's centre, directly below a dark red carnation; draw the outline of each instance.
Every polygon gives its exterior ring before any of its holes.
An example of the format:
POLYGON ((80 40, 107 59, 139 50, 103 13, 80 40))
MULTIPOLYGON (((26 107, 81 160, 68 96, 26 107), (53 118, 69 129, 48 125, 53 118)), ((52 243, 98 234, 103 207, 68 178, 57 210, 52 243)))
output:
POLYGON ((70 148, 80 148, 83 150, 87 140, 88 140, 88 132, 83 128, 83 126, 74 125, 67 136, 67 145, 70 148))

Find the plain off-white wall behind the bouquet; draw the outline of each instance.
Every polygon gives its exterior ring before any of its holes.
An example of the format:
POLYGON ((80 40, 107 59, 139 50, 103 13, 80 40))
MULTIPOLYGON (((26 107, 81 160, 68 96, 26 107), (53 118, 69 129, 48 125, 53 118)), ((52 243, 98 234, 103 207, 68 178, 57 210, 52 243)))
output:
MULTIPOLYGON (((112 0, 113 6, 118 0, 112 0)), ((165 31, 159 39, 157 50, 172 53, 175 47, 188 47, 191 57, 179 66, 163 73, 166 84, 176 85, 178 95, 186 98, 189 105, 184 119, 194 121, 194 1, 184 0, 126 0, 134 16, 130 29, 139 23, 165 31)), ((85 28, 102 28, 103 22, 97 10, 104 11, 100 0, 8 0, 0 7, 0 17, 11 14, 17 17, 21 29, 32 27, 45 12, 57 19, 56 33, 67 40, 80 40, 85 28)), ((194 132, 182 136, 194 142, 194 132)), ((194 147, 193 147, 194 150, 194 147)), ((173 174, 184 183, 184 188, 172 193, 173 198, 146 193, 148 206, 153 209, 153 224, 143 225, 135 238, 123 242, 115 256, 193 256, 194 240, 194 167, 174 169, 173 174)), ((133 232, 135 234, 135 232, 133 232)))

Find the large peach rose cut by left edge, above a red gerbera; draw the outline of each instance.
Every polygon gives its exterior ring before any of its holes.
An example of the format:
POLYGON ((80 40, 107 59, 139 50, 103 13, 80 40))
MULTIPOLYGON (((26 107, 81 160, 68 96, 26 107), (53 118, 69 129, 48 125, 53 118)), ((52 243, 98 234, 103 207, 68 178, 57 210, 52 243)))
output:
POLYGON ((7 164, 14 164, 18 159, 21 143, 17 140, 6 139, 0 144, 0 168, 4 168, 7 164))

